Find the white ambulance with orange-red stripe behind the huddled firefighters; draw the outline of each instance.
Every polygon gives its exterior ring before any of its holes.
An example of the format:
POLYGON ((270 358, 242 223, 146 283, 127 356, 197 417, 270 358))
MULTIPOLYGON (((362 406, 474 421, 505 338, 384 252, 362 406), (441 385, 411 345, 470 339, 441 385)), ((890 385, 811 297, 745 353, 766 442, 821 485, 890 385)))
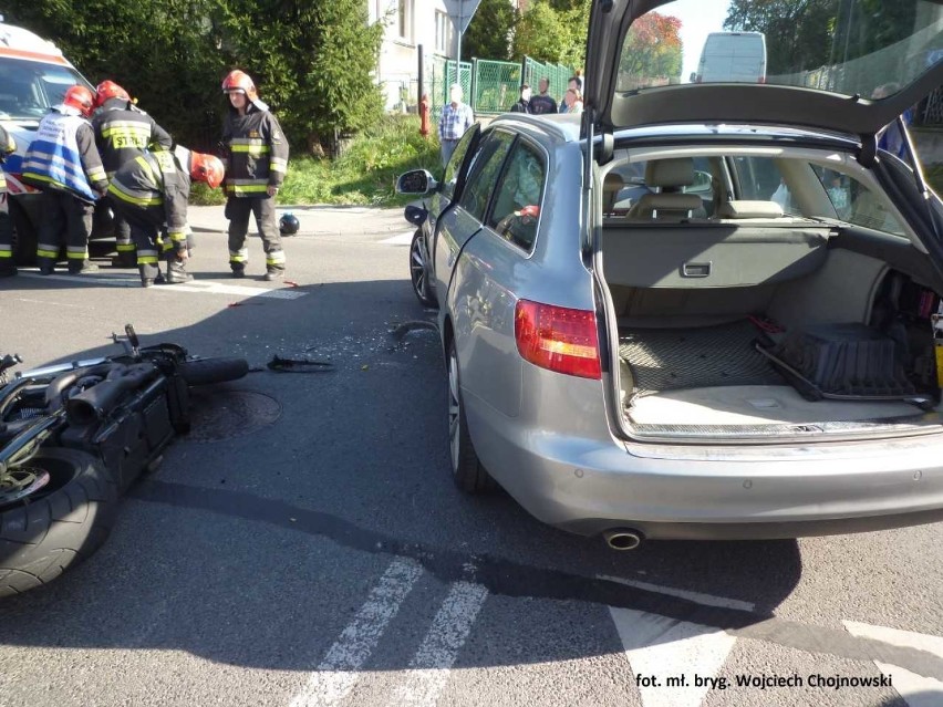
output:
MULTIPOLYGON (((50 106, 62 102, 75 84, 94 91, 52 42, 0 17, 0 125, 17 142, 17 152, 3 163, 9 209, 13 222, 13 257, 19 264, 35 259, 39 193, 20 179, 23 154, 50 106)), ((96 233, 101 233, 96 214, 96 233)), ((105 225, 107 228, 107 225, 105 225)))

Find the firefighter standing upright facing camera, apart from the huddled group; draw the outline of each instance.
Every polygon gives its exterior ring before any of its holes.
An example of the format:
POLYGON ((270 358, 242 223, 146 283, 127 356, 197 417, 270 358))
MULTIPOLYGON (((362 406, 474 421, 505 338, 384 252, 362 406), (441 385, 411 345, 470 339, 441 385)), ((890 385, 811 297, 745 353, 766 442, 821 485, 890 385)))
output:
POLYGON ((234 278, 246 273, 249 216, 266 250, 266 280, 284 277, 284 251, 276 221, 274 197, 288 169, 288 142, 276 117, 259 100, 256 84, 241 71, 222 81, 229 112, 222 127, 226 149, 226 218, 229 219, 229 267, 234 278))

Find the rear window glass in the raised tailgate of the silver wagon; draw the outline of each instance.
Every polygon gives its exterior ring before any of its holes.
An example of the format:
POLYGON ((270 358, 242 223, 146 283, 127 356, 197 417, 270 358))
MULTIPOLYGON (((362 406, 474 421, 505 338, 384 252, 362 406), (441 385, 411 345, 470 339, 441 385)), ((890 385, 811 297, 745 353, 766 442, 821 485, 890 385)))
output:
POLYGON ((936 2, 676 0, 629 29, 616 90, 768 83, 881 98, 939 61, 936 2))

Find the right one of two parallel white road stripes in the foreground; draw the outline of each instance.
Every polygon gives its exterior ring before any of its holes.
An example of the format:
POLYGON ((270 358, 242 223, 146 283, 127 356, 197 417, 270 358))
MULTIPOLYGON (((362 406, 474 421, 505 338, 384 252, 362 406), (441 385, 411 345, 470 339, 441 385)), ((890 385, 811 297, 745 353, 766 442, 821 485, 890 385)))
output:
POLYGON ((419 649, 410 662, 405 683, 397 688, 392 704, 436 704, 455 658, 487 599, 488 590, 480 584, 455 582, 452 585, 419 649))

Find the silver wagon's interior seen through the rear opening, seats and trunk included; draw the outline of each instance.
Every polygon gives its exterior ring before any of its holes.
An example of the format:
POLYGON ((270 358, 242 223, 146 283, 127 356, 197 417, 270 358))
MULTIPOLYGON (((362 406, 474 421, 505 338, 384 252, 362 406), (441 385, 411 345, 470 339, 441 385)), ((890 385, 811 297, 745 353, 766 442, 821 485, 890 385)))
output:
POLYGON ((940 424, 937 278, 871 173, 809 149, 675 148, 616 153, 600 179, 628 428, 940 424))

